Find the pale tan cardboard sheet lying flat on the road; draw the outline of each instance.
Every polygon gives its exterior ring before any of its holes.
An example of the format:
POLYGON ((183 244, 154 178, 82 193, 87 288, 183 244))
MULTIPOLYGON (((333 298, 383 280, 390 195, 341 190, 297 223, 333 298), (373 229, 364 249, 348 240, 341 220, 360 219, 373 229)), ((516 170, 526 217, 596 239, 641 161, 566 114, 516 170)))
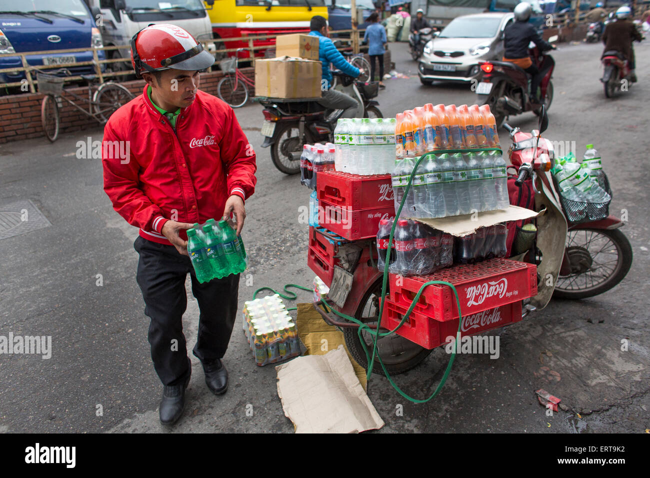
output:
POLYGON ((282 409, 296 433, 357 433, 383 427, 343 345, 325 355, 294 358, 276 370, 282 409))

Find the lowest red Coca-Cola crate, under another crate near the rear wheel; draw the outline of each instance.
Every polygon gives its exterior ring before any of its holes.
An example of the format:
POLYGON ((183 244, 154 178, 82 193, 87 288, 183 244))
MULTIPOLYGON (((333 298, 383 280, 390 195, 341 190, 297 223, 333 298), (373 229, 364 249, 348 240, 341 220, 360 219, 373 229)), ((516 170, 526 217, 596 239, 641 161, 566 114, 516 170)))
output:
MULTIPOLYGON (((393 330, 402 321, 407 310, 408 306, 385 299, 383 301, 382 327, 393 330)), ((461 337, 472 336, 519 321, 521 321, 521 300, 471 315, 463 315, 460 335, 461 337)), ((425 349, 435 349, 435 347, 446 343, 448 337, 456 338, 458 310, 456 319, 441 322, 415 312, 413 309, 408 319, 395 331, 395 334, 409 339, 425 349)))

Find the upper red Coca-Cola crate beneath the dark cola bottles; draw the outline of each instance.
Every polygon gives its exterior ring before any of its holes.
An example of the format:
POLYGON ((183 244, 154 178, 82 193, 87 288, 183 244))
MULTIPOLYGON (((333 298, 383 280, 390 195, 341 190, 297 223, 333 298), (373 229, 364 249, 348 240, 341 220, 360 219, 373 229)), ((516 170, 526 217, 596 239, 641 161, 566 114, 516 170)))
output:
MULTIPOLYGON (((411 305, 425 282, 444 280, 454 284, 463 317, 537 295, 537 267, 510 259, 458 264, 428 276, 389 275, 390 299, 403 307, 411 305)), ((414 310, 437 321, 458 319, 456 296, 447 285, 426 287, 414 310)))

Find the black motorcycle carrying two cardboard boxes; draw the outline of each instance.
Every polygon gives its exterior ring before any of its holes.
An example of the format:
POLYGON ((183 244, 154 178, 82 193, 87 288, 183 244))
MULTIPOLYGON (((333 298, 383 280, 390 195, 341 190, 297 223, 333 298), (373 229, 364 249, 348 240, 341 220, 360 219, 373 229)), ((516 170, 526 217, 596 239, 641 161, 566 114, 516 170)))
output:
MULTIPOLYGON (((379 102, 372 100, 378 95, 379 83, 376 81, 363 83, 353 77, 335 70, 333 75, 338 77, 339 88, 346 94, 356 98, 359 117, 383 118, 379 111, 379 102)), ((300 172, 300 155, 304 144, 317 142, 333 142, 334 128, 341 118, 343 110, 331 110, 317 103, 314 99, 279 99, 255 98, 264 107, 265 122, 261 133, 265 136, 263 148, 271 147, 273 164, 285 174, 300 172)))

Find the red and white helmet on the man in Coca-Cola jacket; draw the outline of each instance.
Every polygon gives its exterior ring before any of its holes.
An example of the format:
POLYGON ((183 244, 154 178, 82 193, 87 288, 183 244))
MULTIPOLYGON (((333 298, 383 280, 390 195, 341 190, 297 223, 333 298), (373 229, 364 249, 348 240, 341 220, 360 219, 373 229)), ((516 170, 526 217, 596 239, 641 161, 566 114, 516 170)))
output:
POLYGON ((142 72, 205 70, 214 57, 181 27, 170 23, 151 24, 131 38, 131 64, 139 78, 142 72))

